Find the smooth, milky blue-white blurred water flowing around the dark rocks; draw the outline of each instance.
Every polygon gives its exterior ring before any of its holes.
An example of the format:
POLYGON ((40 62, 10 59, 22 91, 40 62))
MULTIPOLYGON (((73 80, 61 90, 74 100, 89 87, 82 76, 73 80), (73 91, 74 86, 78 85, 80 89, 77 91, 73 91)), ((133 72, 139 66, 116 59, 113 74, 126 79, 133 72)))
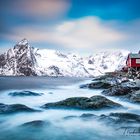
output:
POLYGON ((80 89, 84 83, 91 79, 83 78, 50 78, 50 77, 0 77, 0 103, 20 103, 29 107, 40 109, 42 112, 16 113, 0 115, 0 140, 137 140, 139 136, 124 136, 95 120, 85 121, 80 118, 64 119, 67 116, 80 116, 83 113, 96 115, 109 114, 110 112, 135 112, 139 113, 139 106, 116 98, 109 98, 121 103, 125 109, 110 109, 98 111, 48 109, 43 110, 41 105, 49 102, 60 101, 69 97, 91 97, 101 95, 101 90, 80 89), (30 90, 44 93, 42 96, 12 97, 8 93, 14 91, 30 90), (50 122, 37 128, 24 128, 22 124, 34 120, 50 122))

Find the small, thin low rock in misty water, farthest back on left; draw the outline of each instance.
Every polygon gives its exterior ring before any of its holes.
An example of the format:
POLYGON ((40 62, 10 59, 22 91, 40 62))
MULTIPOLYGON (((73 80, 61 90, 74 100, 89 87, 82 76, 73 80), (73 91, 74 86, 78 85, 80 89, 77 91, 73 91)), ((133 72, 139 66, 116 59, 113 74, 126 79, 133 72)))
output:
POLYGON ((21 91, 21 92, 11 92, 8 95, 10 96, 41 96, 43 93, 36 93, 31 91, 21 91))

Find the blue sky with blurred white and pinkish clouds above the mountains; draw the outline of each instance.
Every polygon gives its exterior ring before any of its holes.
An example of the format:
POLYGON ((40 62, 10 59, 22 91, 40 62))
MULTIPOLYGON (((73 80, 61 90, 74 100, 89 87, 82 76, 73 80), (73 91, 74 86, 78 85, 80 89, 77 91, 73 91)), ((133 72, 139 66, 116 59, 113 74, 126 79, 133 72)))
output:
POLYGON ((0 53, 36 48, 92 54, 140 50, 139 0, 0 0, 0 53))

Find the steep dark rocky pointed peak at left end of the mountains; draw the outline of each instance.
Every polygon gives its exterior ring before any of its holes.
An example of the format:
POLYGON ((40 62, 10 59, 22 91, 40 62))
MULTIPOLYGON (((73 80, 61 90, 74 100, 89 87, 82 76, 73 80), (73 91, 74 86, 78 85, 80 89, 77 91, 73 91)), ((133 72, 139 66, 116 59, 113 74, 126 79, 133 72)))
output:
POLYGON ((13 49, 9 49, 7 53, 0 55, 0 68, 3 71, 11 71, 12 75, 36 76, 35 63, 34 48, 30 47, 26 39, 16 44, 13 49))

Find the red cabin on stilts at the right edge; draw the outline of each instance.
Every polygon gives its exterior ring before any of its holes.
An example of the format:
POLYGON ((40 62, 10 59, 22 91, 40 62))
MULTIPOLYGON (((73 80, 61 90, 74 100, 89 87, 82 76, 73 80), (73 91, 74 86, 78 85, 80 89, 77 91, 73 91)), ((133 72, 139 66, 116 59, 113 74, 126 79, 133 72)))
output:
POLYGON ((140 53, 130 53, 126 61, 127 68, 134 71, 140 71, 140 53))

